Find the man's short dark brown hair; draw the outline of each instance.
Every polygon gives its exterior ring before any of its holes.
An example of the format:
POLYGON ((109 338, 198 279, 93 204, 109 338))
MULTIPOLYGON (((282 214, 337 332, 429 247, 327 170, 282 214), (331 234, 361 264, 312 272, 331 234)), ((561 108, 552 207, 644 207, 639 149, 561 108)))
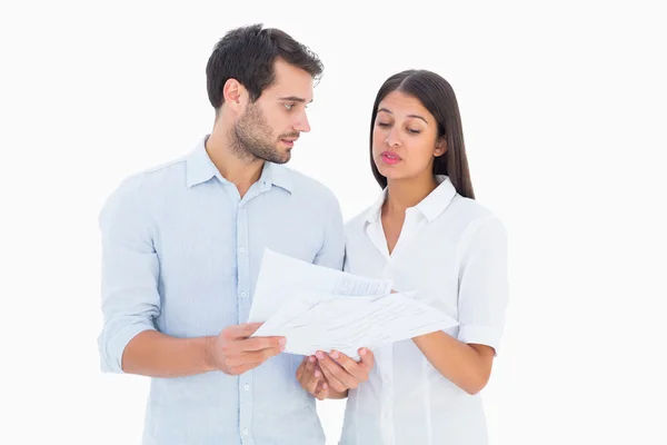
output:
POLYGON ((229 79, 238 80, 256 101, 276 80, 275 62, 287 63, 319 79, 323 71, 317 55, 285 31, 263 28, 261 23, 236 28, 225 34, 206 66, 209 101, 219 111, 225 97, 222 88, 229 79))

